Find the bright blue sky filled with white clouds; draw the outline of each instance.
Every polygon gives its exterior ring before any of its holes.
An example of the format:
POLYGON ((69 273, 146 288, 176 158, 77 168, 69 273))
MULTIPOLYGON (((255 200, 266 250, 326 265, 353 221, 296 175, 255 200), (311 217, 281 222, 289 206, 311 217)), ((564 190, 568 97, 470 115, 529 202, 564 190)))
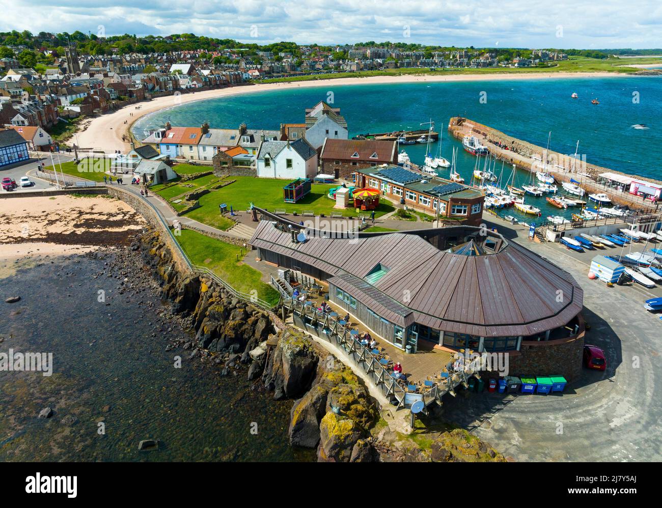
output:
POLYGON ((502 48, 661 48, 655 0, 0 0, 0 31, 269 44, 374 40, 502 48))

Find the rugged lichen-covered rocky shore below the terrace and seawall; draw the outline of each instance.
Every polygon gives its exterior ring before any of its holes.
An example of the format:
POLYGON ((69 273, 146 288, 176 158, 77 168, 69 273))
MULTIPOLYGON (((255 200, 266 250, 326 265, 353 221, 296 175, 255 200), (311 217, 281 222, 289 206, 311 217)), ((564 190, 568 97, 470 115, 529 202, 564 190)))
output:
POLYGON ((158 232, 137 236, 130 251, 160 281, 173 319, 195 333, 167 348, 214 362, 221 375, 247 376, 254 390, 269 390, 275 400, 293 400, 290 443, 316 448, 318 461, 504 460, 465 431, 431 435, 425 450, 389 431, 362 381, 312 337, 234 298, 207 276, 179 271, 158 232))

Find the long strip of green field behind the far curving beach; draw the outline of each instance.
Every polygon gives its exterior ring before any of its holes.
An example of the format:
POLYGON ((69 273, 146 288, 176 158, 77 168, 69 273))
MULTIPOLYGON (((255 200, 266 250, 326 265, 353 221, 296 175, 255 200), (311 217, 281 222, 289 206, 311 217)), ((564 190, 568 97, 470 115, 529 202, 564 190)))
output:
POLYGON ((357 71, 324 73, 308 76, 280 77, 263 79, 260 83, 277 83, 279 81, 316 81, 318 79, 340 79, 343 77, 370 76, 404 76, 404 75, 455 75, 455 74, 499 74, 499 73, 547 73, 547 72, 614 72, 622 74, 635 73, 641 69, 628 67, 634 64, 659 64, 659 58, 587 58, 571 56, 569 60, 551 62, 543 67, 459 67, 434 70, 420 67, 404 67, 401 69, 385 69, 381 71, 357 71))

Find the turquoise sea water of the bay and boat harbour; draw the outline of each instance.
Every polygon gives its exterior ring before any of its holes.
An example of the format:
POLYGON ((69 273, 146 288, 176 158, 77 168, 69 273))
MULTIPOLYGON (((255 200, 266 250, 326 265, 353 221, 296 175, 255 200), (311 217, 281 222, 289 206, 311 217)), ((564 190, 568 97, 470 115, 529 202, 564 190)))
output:
MULTIPOLYGON (((175 126, 207 121, 213 128, 229 128, 246 122, 249 128, 277 129, 281 123, 302 122, 305 108, 326 100, 329 92, 333 93, 334 106, 340 107, 347 119, 350 136, 426 128, 420 124, 432 118, 436 130, 444 134, 442 155, 450 160, 453 147, 459 149, 457 169, 467 182, 475 158, 449 138, 446 126, 451 116, 467 116, 539 146, 547 145, 551 131, 550 149, 573 154, 579 140, 579 155, 585 155, 590 163, 662 179, 662 77, 656 76, 286 89, 176 106, 141 118, 134 132, 140 138, 144 129, 166 120, 175 126), (480 101, 482 92, 487 97, 485 103, 480 101), (570 98, 573 92, 579 99, 570 98), (633 102, 634 92, 638 92, 638 103, 633 102), (591 104, 594 97, 600 105, 591 104), (649 128, 634 129, 635 124, 649 128)), ((425 146, 404 149, 414 163, 423 162, 425 146)), ((437 149, 435 144, 431 151, 436 153, 437 149)), ((500 163, 496 169, 498 173, 500 163)), ((448 169, 440 175, 448 177, 448 169)), ((518 175, 519 185, 527 181, 526 173, 518 175)), ((527 202, 541 208, 544 216, 571 214, 571 209, 564 213, 547 205, 544 198, 529 196, 527 202)))

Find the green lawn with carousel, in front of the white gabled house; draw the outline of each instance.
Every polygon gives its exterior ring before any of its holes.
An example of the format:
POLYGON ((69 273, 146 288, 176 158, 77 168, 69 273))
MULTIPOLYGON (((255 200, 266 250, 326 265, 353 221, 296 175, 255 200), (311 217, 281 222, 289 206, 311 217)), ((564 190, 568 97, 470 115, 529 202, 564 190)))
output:
MULTIPOLYGON (((347 217, 357 216, 354 208, 334 210, 334 200, 326 197, 328 190, 338 187, 338 185, 314 184, 310 193, 298 203, 286 203, 283 201, 283 187, 289 183, 288 180, 254 177, 232 177, 232 179, 236 179, 236 182, 201 196, 199 199, 201 208, 189 212, 187 216, 213 226, 213 221, 218 218, 219 204, 226 203, 228 210, 230 206, 233 206, 235 210, 248 210, 251 202, 270 212, 279 209, 299 214, 311 211, 316 215, 326 214, 328 216, 331 213, 342 212, 347 217)), ((389 202, 382 202, 375 210, 375 217, 391 211, 393 211, 393 206, 389 202)))

